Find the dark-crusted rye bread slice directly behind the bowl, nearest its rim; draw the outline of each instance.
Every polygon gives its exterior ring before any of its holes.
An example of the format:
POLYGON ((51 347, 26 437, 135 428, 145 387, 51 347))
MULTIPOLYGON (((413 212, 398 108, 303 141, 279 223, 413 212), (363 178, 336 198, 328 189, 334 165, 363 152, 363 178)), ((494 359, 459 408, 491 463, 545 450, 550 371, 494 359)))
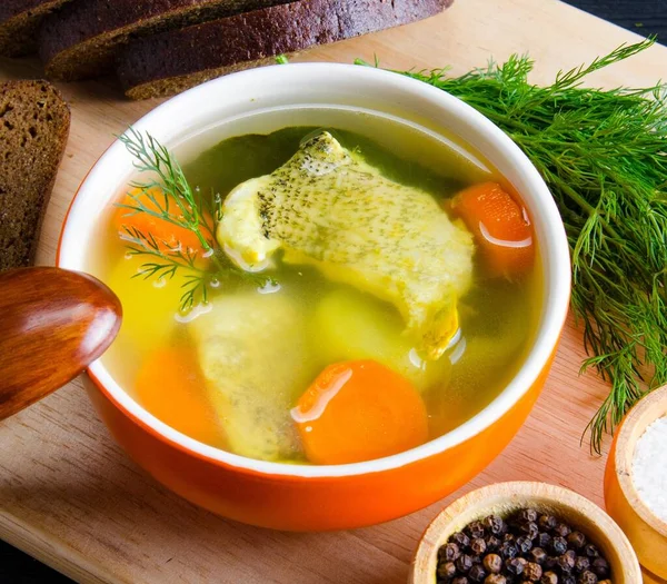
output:
POLYGON ((177 93, 316 44, 407 24, 452 0, 298 0, 138 39, 117 67, 132 99, 177 93))

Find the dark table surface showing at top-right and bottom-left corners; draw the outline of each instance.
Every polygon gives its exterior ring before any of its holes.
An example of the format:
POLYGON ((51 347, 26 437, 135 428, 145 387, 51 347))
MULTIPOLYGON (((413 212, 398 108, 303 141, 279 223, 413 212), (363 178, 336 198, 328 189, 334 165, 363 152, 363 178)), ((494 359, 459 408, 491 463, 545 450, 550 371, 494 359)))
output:
MULTIPOLYGON (((465 1, 465 0, 459 0, 465 1)), ((620 27, 667 44, 667 0, 564 0, 620 27)), ((70 584, 30 556, 0 541, 0 584, 70 584)))

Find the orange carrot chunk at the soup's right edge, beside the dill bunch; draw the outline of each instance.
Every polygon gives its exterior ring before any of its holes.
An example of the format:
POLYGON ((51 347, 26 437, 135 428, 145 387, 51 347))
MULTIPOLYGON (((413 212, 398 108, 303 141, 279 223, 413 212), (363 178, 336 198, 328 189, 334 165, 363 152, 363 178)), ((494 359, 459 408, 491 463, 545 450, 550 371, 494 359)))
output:
POLYGON ((454 197, 450 210, 472 231, 489 276, 512 278, 534 264, 532 229, 522 207, 497 182, 469 187, 454 197))

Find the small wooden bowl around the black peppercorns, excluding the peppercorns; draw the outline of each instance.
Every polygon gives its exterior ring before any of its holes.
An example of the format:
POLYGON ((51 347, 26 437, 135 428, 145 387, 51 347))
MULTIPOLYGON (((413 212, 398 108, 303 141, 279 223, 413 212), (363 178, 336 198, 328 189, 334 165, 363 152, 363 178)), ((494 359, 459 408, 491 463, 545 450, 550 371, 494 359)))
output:
POLYGON ((641 572, 627 537, 600 507, 577 493, 546 483, 497 483, 455 501, 428 526, 415 560, 410 584, 435 584, 438 550, 470 522, 531 507, 561 517, 594 542, 611 567, 614 584, 639 584, 641 572))

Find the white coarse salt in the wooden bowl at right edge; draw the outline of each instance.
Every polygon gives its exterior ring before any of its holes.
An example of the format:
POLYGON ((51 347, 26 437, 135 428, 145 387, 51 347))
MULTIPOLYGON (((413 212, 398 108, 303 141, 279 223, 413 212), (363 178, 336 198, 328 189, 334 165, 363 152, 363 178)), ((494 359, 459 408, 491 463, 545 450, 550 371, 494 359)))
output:
POLYGON ((637 441, 633 482, 641 501, 667 521, 667 416, 650 424, 637 441))

